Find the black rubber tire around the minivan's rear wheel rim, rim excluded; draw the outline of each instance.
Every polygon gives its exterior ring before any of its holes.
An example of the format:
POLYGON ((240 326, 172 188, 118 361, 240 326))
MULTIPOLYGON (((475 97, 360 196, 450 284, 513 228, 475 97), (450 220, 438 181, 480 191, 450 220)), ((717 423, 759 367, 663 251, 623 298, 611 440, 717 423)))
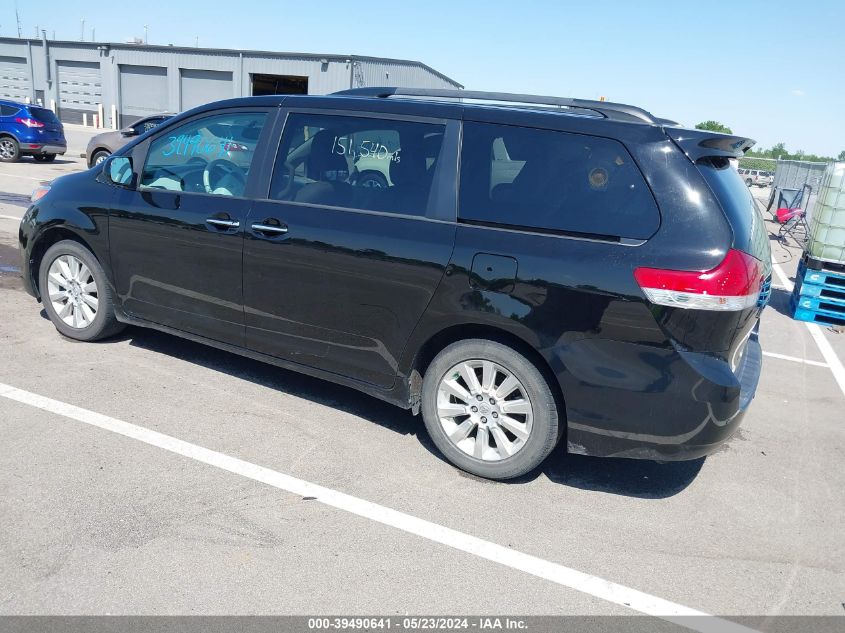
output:
MULTIPOLYGON (((468 473, 487 479, 513 479, 537 468, 548 457, 562 434, 557 400, 539 369, 511 347, 486 339, 467 339, 446 347, 425 372, 422 414, 428 434, 446 459, 468 473), (533 424, 520 450, 498 461, 485 461, 465 453, 449 439, 437 413, 437 392, 441 380, 464 361, 491 361, 510 372, 531 401, 533 424)), ((472 432, 470 433, 470 435, 472 432)))

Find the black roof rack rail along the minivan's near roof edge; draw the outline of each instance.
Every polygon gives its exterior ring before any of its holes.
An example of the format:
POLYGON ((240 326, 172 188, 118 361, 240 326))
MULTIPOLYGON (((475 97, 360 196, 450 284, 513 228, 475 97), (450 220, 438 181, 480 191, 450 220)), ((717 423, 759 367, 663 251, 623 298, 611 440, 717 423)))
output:
POLYGON ((650 112, 636 106, 611 101, 591 101, 589 99, 571 99, 565 97, 542 97, 538 95, 512 94, 509 92, 481 92, 477 90, 449 90, 443 88, 351 88, 333 93, 334 95, 349 97, 436 97, 446 99, 474 99, 476 101, 502 101, 510 103, 530 103, 537 105, 551 105, 580 110, 591 110, 605 118, 623 121, 643 121, 651 124, 662 124, 650 112))

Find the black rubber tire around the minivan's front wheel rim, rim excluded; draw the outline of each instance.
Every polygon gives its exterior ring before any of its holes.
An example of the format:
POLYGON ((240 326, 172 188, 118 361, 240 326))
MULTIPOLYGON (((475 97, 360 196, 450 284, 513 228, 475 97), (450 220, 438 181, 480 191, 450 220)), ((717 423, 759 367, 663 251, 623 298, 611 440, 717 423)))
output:
POLYGON ((103 267, 100 266, 100 262, 97 261, 93 253, 78 242, 63 240, 47 249, 44 257, 41 259, 41 268, 38 271, 38 287, 41 292, 41 301, 44 304, 44 309, 47 311, 47 316, 50 317, 56 329, 68 338, 77 341, 97 341, 113 336, 125 327, 115 317, 111 286, 109 286, 108 279, 106 279, 103 267), (73 327, 65 323, 58 312, 56 312, 56 308, 50 300, 47 275, 53 262, 64 255, 72 255, 85 264, 96 283, 97 311, 94 319, 85 327, 73 327))

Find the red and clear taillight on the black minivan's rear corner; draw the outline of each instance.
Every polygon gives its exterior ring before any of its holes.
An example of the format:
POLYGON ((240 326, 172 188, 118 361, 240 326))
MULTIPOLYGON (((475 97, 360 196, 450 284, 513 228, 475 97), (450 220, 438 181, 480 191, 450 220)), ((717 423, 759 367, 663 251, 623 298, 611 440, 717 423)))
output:
POLYGON ((751 308, 763 285, 760 261, 737 250, 729 250, 713 270, 637 268, 634 277, 652 303, 693 310, 751 308))

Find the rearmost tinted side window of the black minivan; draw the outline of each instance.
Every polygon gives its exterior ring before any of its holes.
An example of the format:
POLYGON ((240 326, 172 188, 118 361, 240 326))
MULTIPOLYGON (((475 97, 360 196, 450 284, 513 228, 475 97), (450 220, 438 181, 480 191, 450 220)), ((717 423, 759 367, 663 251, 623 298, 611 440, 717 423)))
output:
POLYGON ((462 221, 645 239, 660 213, 618 141, 490 123, 464 125, 462 221))

